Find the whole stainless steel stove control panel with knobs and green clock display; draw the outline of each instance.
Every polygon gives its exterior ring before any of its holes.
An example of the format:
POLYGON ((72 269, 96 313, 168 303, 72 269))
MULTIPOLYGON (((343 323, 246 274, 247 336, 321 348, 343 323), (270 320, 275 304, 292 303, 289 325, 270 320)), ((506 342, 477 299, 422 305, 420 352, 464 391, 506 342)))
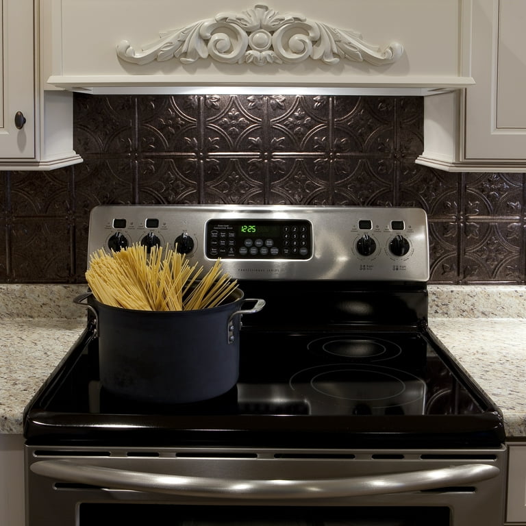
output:
POLYGON ((427 281, 427 216, 419 208, 303 205, 101 205, 88 254, 138 243, 171 247, 236 279, 427 281))

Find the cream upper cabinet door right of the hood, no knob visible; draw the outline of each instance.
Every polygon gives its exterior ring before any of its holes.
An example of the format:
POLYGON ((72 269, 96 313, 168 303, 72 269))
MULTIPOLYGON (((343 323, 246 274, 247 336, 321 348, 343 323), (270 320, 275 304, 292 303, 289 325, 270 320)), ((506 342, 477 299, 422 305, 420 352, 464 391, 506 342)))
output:
POLYGON ((466 93, 466 160, 526 166, 526 2, 473 1, 475 86, 466 93))

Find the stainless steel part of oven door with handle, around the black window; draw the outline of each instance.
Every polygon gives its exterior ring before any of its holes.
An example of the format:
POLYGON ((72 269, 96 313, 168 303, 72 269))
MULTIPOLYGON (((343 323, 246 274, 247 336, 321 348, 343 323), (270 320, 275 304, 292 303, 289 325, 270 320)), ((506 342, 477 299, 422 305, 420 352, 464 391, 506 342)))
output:
MULTIPOLYGON (((501 526, 504 517, 505 447, 281 451, 41 445, 26 446, 25 453, 31 526, 47 526, 49 516, 53 526, 78 524, 79 503, 114 504, 117 510, 171 504, 173 516, 178 505, 249 506, 254 511, 247 526, 262 524, 258 510, 276 505, 296 506, 299 516, 303 507, 336 506, 348 510, 349 524, 353 507, 364 506, 420 508, 423 516, 432 513, 427 507, 449 508, 444 526, 501 526)), ((371 518, 371 524, 377 522, 371 518)))

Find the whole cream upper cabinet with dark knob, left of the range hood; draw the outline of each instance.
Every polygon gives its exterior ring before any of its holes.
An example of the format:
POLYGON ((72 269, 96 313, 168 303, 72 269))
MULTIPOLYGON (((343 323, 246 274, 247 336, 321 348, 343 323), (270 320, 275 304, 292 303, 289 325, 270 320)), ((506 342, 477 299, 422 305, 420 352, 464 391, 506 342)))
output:
POLYGON ((38 0, 0 0, 0 14, 0 170, 81 162, 73 151, 71 93, 44 90, 41 82, 45 10, 38 0))

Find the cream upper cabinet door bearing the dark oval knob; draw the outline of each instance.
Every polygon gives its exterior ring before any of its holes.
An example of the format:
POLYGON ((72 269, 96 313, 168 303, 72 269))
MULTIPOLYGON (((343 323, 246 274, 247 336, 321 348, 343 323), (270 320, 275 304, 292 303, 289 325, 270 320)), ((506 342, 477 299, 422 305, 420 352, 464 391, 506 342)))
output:
POLYGON ((0 0, 0 158, 35 157, 34 3, 0 0), (14 118, 26 120, 17 129, 14 118))

